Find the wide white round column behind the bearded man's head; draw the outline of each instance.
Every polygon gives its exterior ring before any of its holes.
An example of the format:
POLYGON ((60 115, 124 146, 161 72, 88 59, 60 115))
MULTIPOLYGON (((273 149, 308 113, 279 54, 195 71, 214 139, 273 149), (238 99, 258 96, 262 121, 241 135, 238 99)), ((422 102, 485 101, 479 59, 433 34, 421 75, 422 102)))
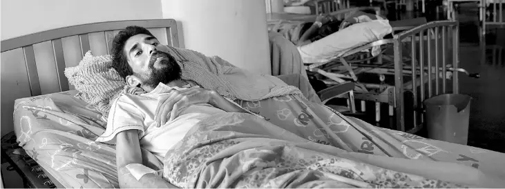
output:
POLYGON ((162 0, 164 19, 182 26, 184 48, 271 74, 265 1, 162 0))

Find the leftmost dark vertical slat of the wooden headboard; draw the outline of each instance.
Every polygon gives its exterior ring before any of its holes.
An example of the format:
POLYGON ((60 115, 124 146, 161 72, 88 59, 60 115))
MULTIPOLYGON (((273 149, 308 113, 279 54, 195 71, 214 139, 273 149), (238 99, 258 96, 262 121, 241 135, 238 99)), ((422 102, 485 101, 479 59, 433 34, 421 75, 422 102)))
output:
POLYGON ((32 96, 41 95, 42 91, 40 90, 39 73, 37 72, 33 46, 23 47, 23 56, 25 58, 26 72, 28 73, 28 81, 30 82, 32 96))

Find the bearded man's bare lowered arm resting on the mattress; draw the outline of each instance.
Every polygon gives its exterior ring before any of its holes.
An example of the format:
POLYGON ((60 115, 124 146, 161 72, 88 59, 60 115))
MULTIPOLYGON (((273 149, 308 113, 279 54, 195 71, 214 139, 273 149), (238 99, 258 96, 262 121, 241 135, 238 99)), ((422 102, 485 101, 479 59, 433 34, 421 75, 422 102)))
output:
POLYGON ((116 135, 117 179, 120 188, 177 188, 153 173, 137 180, 126 168, 129 164, 142 164, 138 130, 124 130, 116 135))

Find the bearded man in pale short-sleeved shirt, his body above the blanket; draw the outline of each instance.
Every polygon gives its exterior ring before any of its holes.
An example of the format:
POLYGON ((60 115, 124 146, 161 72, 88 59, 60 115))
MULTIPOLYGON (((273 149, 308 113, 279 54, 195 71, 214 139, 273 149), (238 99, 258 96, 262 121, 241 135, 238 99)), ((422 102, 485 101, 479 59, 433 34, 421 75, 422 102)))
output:
MULTIPOLYGON (((164 157, 198 121, 222 112, 249 113, 216 91, 182 80, 181 68, 166 48, 149 30, 140 27, 128 27, 114 39, 113 68, 128 86, 147 92, 121 94, 115 99, 106 132, 97 139, 115 141, 122 187, 146 186, 124 175, 129 172, 128 164, 142 163, 140 145, 164 157)), ((155 183, 169 186, 162 180, 155 183)))

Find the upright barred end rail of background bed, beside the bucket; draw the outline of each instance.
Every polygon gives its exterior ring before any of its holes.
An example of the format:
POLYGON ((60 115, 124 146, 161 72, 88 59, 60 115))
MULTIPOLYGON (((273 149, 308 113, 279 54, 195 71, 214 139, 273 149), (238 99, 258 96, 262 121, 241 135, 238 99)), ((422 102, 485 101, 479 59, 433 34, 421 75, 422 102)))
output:
POLYGON ((458 72, 452 72, 452 85, 446 82, 447 70, 459 68, 458 48, 457 21, 433 21, 394 35, 394 99, 397 130, 406 130, 406 125, 410 125, 405 119, 406 107, 402 106, 406 105, 403 91, 407 88, 410 88, 413 102, 412 122, 415 127, 410 130, 411 133, 417 132, 422 126, 422 102, 425 99, 437 94, 459 92, 458 72), (402 58, 406 49, 411 57, 410 66, 405 65, 408 63, 402 58), (403 82, 403 70, 410 70, 411 81, 403 82))

